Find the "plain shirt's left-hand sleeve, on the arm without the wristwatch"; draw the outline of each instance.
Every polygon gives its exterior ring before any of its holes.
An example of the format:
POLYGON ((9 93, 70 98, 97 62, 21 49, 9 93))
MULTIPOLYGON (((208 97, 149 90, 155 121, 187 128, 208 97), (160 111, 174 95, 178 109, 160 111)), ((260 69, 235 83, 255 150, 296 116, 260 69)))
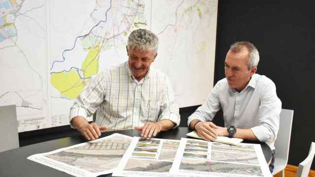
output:
POLYGON ((193 119, 205 122, 211 121, 215 117, 216 113, 221 109, 220 98, 218 96, 219 88, 220 84, 216 84, 206 101, 188 117, 188 126, 193 119))

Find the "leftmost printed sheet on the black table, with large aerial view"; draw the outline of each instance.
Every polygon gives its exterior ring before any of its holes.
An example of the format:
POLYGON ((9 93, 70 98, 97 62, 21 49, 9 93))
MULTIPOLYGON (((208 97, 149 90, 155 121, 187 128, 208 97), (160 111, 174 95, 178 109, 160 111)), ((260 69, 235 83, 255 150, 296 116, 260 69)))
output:
POLYGON ((28 159, 75 177, 97 177, 117 167, 132 137, 119 133, 87 143, 34 154, 28 159))

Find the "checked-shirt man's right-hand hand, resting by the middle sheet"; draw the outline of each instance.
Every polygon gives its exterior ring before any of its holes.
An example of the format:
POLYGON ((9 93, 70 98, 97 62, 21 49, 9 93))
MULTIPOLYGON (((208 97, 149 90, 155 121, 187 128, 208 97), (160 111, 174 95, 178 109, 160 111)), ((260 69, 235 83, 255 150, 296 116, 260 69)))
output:
POLYGON ((135 126, 134 129, 141 132, 141 136, 144 138, 151 138, 157 136, 158 132, 162 130, 162 123, 160 122, 146 122, 144 126, 135 126))

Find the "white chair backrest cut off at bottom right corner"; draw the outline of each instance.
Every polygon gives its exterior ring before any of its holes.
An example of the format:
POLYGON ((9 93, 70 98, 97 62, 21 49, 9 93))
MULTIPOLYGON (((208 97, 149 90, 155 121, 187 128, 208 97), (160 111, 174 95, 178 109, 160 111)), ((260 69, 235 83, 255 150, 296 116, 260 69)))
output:
POLYGON ((299 164, 296 177, 308 177, 314 155, 315 155, 315 143, 312 142, 309 155, 306 157, 305 160, 303 160, 303 162, 299 164))

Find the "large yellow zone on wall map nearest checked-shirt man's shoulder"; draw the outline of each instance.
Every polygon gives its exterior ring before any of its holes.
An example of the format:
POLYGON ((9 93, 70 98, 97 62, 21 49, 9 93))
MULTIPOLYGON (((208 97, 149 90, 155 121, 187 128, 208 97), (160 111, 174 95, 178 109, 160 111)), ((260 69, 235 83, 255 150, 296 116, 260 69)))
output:
POLYGON ((69 72, 51 74, 51 84, 67 98, 75 99, 85 86, 79 74, 74 69, 69 72))

